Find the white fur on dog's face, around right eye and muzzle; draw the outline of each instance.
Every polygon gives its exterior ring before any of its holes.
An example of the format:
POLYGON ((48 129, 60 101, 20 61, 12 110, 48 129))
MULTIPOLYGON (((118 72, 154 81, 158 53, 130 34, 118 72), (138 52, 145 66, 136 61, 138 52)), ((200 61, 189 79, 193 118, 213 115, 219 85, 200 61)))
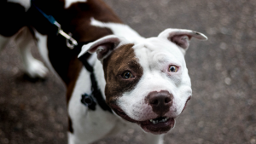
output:
POLYGON ((145 102, 150 92, 166 90, 173 95, 173 104, 167 118, 176 118, 192 95, 191 83, 184 55, 175 43, 160 37, 152 37, 133 49, 140 65, 143 77, 135 89, 119 97, 118 106, 130 118, 144 121, 159 117, 145 102), (168 72, 169 66, 178 66, 177 72, 168 72))

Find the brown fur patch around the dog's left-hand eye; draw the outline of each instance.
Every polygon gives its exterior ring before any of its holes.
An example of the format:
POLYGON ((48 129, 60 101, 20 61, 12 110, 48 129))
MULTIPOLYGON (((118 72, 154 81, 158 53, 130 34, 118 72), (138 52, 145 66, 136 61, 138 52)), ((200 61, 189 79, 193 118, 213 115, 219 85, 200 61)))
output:
POLYGON ((125 91, 130 91, 143 76, 143 67, 132 49, 133 44, 126 44, 113 50, 113 53, 103 60, 106 79, 105 95, 108 105, 113 104, 125 91), (130 71, 134 78, 124 79, 122 74, 130 71))

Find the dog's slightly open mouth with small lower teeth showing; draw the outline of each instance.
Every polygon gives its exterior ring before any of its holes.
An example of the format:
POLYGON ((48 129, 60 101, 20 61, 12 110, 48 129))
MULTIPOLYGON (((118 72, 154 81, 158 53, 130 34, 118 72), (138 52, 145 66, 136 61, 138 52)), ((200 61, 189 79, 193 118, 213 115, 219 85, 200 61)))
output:
POLYGON ((174 127, 174 118, 159 117, 137 123, 143 130, 159 135, 168 132, 174 127))

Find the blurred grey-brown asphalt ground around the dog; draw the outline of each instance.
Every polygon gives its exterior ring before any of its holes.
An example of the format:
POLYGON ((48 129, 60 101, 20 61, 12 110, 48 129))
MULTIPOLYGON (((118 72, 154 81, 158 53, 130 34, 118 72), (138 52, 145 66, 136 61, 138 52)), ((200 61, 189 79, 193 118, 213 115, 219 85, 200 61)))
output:
MULTIPOLYGON (((256 143, 255 0, 106 0, 144 37, 168 27, 205 33, 192 40, 186 60, 193 97, 165 137, 166 144, 256 143)), ((38 50, 33 54, 40 59, 38 50)), ((65 87, 53 73, 31 82, 20 71, 15 44, 0 53, 0 143, 67 143, 65 87)), ((94 144, 143 144, 126 130, 94 144)))

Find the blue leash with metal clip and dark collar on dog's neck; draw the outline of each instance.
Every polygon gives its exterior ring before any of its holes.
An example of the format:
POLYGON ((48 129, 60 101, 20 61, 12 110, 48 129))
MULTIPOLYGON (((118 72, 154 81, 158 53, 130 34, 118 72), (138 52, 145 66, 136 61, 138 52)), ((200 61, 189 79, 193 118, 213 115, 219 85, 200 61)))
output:
MULTIPOLYGON (((34 3, 35 0, 31 0, 32 7, 38 10, 41 14, 44 15, 44 17, 51 23, 52 25, 55 25, 58 27, 57 34, 61 34, 61 36, 65 37, 67 39, 67 48, 74 49, 77 51, 77 54, 79 54, 81 47, 84 45, 84 43, 77 43, 77 41, 71 37, 71 34, 67 34, 61 29, 61 25, 55 20, 55 18, 52 15, 45 14, 44 11, 39 9, 36 4, 34 3)), ((81 102, 84 104, 85 107, 88 107, 90 110, 96 110, 96 104, 98 104, 104 111, 108 111, 112 113, 112 110, 110 107, 108 107, 106 101, 103 98, 101 89, 98 88, 98 84, 96 81, 96 77, 94 74, 94 69, 87 61, 87 56, 82 55, 79 57, 79 60, 83 63, 84 67, 88 72, 90 72, 90 82, 91 82, 91 93, 90 94, 82 94, 81 95, 81 102)))

